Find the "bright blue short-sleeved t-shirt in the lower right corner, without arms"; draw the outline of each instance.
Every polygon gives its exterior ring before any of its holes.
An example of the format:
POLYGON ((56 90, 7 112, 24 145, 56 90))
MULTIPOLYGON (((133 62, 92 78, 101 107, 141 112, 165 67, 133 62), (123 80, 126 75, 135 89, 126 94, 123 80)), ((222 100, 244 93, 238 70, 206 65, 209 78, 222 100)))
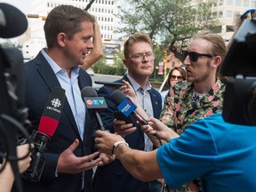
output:
POLYGON ((157 161, 167 184, 202 178, 203 191, 256 191, 256 126, 228 124, 221 114, 190 124, 158 148, 157 161))

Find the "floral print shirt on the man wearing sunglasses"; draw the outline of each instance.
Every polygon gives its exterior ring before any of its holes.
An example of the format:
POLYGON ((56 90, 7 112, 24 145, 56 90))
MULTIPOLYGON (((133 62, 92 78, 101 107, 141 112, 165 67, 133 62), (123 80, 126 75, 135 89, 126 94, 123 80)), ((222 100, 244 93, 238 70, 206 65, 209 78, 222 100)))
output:
POLYGON ((199 118, 222 112, 225 84, 218 79, 202 100, 193 102, 193 84, 182 81, 170 88, 160 120, 177 133, 199 118))

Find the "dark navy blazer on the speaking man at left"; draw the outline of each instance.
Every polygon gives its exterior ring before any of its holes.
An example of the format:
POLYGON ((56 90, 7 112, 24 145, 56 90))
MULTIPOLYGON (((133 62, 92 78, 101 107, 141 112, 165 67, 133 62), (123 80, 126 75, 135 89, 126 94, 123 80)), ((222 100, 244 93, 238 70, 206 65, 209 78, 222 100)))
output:
MULTIPOLYGON (((51 66, 44 59, 41 52, 34 60, 25 64, 26 74, 26 102, 29 108, 29 120, 33 124, 33 129, 37 130, 40 117, 52 88, 60 86, 51 66)), ((82 68, 79 72, 78 82, 80 89, 85 86, 92 86, 92 79, 82 68)), ((34 183, 24 180, 24 191, 54 191, 54 192, 75 192, 81 191, 82 173, 63 174, 55 176, 58 157, 61 152, 68 148, 74 140, 79 140, 79 146, 74 151, 76 156, 86 156, 92 154, 92 122, 86 111, 84 124, 84 141, 80 139, 75 118, 66 98, 64 108, 60 116, 60 123, 54 132, 52 139, 48 142, 47 152, 44 153, 45 166, 40 182, 34 183)), ((32 132, 32 130, 30 130, 32 132)), ((92 170, 85 172, 84 191, 92 192, 92 170)))

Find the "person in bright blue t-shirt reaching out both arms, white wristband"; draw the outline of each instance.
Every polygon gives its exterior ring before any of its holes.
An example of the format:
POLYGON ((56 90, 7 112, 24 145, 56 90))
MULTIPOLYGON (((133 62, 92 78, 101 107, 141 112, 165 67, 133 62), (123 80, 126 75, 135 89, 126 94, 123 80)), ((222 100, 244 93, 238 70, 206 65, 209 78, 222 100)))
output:
POLYGON ((256 191, 252 176, 256 172, 255 126, 229 124, 216 114, 188 125, 179 136, 156 118, 149 121, 144 132, 157 132, 164 146, 139 151, 129 148, 119 135, 97 131, 99 151, 115 153, 139 180, 164 178, 170 187, 180 188, 200 177, 203 191, 256 191))

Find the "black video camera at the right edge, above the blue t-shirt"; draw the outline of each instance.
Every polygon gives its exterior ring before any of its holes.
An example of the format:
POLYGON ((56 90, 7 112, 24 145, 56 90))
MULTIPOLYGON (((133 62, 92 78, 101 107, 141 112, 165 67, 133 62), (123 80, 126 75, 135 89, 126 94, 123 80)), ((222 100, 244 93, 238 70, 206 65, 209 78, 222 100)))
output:
POLYGON ((227 76, 223 119, 231 124, 256 124, 256 18, 244 20, 220 68, 227 76))

